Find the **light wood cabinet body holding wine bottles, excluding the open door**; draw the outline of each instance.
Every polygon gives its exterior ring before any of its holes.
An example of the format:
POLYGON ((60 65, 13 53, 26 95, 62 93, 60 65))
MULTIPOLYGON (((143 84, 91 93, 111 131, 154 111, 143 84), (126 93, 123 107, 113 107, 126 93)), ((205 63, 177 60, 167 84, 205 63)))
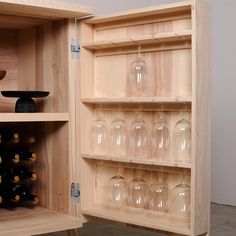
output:
POLYGON ((47 99, 37 101, 37 113, 14 113, 15 101, 0 95, 0 128, 36 135, 29 148, 38 156, 34 170, 39 181, 33 191, 40 199, 34 208, 1 208, 1 236, 29 236, 82 226, 71 197, 71 184, 78 181, 71 39, 74 19, 92 13, 90 7, 63 1, 0 1, 0 68, 7 70, 0 81, 1 90, 50 92, 47 99))

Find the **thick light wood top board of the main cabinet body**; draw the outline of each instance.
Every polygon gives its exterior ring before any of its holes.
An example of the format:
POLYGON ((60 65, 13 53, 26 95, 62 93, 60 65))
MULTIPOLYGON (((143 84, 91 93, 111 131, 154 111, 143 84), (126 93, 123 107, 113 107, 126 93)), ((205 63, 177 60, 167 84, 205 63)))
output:
POLYGON ((62 0, 0 0, 0 13, 42 17, 73 18, 92 15, 91 6, 62 0))

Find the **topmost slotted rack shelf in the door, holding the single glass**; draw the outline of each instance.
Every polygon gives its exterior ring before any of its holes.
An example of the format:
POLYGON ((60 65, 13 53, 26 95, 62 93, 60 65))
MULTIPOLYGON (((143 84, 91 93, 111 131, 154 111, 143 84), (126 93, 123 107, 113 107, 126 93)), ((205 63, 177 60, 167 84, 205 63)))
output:
POLYGON ((118 47, 130 47, 145 44, 162 44, 170 42, 190 41, 192 36, 191 30, 183 32, 168 32, 155 35, 140 35, 129 39, 114 39, 107 41, 94 41, 83 44, 83 47, 90 50, 109 49, 118 47))

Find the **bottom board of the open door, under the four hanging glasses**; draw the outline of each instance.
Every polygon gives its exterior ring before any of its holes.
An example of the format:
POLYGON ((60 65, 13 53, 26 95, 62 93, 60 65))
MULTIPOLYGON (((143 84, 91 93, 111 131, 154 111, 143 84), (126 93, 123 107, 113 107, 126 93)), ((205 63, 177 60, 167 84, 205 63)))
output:
POLYGON ((95 205, 92 209, 88 210, 82 209, 82 213, 126 224, 190 235, 189 219, 175 217, 167 213, 158 213, 130 207, 111 209, 100 205, 95 205))

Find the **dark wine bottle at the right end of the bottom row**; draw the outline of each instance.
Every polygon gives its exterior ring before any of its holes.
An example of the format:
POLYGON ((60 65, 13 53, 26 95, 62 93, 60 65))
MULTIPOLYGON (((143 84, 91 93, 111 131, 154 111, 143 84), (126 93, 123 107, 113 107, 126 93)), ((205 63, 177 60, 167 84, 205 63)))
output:
POLYGON ((31 202, 34 205, 37 205, 39 203, 38 196, 31 194, 27 188, 21 185, 16 185, 12 190, 15 195, 20 196, 21 202, 31 202))

